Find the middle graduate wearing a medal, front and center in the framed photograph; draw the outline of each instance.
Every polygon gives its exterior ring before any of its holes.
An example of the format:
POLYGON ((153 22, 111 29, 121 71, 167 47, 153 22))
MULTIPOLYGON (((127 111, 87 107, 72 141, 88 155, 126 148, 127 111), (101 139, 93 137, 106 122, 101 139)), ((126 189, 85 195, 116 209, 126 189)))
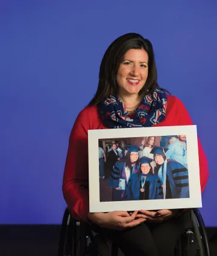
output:
POLYGON ((125 192, 125 200, 163 199, 159 176, 151 174, 151 158, 139 159, 139 172, 131 176, 131 183, 125 192))

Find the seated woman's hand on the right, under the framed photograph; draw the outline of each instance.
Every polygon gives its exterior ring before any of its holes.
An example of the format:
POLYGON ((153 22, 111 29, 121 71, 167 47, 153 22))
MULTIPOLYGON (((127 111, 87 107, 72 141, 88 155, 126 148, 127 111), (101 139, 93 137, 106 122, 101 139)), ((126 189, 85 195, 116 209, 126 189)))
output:
POLYGON ((174 217, 178 213, 178 209, 175 210, 160 210, 160 211, 145 211, 140 210, 139 214, 136 215, 136 218, 144 218, 149 222, 163 222, 168 220, 171 217, 174 217))

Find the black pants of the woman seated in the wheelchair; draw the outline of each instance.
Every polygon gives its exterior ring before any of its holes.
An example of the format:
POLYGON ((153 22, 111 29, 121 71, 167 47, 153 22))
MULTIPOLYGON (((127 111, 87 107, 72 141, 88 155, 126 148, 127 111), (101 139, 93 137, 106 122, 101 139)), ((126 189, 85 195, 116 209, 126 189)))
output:
POLYGON ((125 231, 101 230, 125 256, 174 256, 181 233, 192 228, 190 211, 162 223, 145 222, 125 231))

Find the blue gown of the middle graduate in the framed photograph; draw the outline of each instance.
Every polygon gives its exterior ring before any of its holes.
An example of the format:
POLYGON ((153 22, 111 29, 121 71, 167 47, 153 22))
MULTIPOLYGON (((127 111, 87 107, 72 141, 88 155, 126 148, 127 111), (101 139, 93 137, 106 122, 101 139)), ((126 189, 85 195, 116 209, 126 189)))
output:
POLYGON ((131 183, 128 185, 124 195, 125 200, 151 200, 163 199, 163 189, 159 176, 152 174, 138 173, 131 176, 131 183), (142 188, 142 176, 145 177, 145 191, 140 191, 142 188))

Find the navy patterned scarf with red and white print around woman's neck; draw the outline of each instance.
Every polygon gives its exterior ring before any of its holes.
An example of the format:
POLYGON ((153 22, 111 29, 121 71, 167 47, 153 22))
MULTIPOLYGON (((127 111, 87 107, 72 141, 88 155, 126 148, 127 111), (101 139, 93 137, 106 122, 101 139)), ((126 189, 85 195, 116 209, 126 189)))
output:
POLYGON ((142 99, 133 119, 118 95, 106 97, 99 104, 99 112, 105 125, 110 128, 150 127, 165 119, 166 104, 166 94, 155 89, 153 95, 146 95, 142 99))

